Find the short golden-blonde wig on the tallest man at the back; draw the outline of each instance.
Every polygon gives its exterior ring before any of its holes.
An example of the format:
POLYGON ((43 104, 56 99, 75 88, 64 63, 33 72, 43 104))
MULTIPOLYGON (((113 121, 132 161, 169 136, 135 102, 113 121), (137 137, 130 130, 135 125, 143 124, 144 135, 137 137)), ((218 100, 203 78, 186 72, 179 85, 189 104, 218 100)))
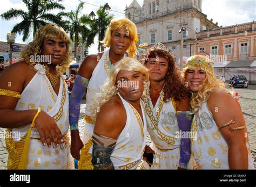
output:
POLYGON ((129 20, 127 18, 112 19, 109 27, 107 28, 107 30, 105 32, 105 38, 101 42, 104 44, 105 47, 110 47, 112 31, 123 28, 124 26, 131 38, 131 44, 130 44, 129 48, 127 49, 127 52, 131 55, 131 57, 133 57, 137 54, 136 44, 139 42, 139 37, 137 34, 136 25, 131 20, 129 20))

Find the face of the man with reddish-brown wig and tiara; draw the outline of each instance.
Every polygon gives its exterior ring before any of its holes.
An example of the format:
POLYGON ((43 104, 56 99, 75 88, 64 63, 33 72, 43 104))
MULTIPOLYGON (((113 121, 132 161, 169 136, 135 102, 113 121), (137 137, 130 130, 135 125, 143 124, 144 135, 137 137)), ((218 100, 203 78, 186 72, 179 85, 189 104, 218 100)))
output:
POLYGON ((150 80, 159 82, 164 80, 169 63, 164 57, 150 58, 145 64, 145 67, 149 69, 150 80))

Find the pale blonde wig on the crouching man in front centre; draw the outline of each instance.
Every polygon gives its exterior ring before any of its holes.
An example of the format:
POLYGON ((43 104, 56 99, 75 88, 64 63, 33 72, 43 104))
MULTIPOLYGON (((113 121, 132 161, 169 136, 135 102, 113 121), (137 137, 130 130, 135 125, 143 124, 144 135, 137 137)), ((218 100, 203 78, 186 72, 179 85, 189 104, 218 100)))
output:
POLYGON ((111 97, 117 94, 117 75, 120 70, 125 71, 136 71, 143 75, 143 81, 146 82, 144 84, 143 95, 146 94, 146 88, 148 86, 149 81, 149 73, 148 70, 143 66, 142 63, 137 61, 136 59, 132 59, 130 57, 124 57, 122 60, 118 61, 113 69, 110 71, 110 76, 106 79, 102 87, 96 96, 92 99, 91 105, 89 106, 89 110, 92 113, 91 118, 96 120, 97 113, 99 112, 100 107, 105 104, 111 97))

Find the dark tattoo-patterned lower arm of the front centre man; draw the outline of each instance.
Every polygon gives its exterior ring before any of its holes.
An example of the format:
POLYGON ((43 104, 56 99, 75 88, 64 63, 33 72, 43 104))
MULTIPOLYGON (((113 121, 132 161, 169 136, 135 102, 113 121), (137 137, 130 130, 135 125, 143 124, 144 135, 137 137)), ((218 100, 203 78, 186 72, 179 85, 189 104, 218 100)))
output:
POLYGON ((116 139, 93 133, 92 164, 95 169, 114 169, 110 159, 116 146, 116 139))

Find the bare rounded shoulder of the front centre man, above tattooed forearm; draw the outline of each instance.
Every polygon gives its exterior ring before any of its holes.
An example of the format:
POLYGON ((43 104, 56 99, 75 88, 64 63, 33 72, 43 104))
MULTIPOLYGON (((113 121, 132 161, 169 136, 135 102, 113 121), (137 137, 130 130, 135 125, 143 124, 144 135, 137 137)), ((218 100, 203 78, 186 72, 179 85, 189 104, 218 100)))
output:
POLYGON ((126 111, 122 101, 111 98, 97 114, 95 132, 109 138, 117 139, 126 124, 126 111))

